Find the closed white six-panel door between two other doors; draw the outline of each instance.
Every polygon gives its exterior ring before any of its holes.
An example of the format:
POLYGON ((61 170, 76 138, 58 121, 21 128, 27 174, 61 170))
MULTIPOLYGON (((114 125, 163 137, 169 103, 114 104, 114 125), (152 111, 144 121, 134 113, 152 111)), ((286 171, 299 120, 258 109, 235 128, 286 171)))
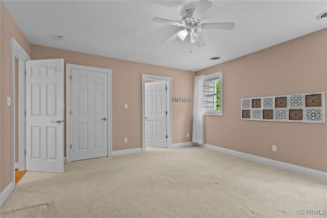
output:
POLYGON ((80 66, 71 79, 71 161, 107 157, 108 73, 80 66))

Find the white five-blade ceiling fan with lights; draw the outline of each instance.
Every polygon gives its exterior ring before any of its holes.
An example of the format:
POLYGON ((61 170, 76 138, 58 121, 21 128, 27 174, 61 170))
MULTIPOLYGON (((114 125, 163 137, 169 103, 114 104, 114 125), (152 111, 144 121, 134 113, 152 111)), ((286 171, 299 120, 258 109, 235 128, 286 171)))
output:
MULTIPOLYGON (((181 21, 174 21, 169 19, 163 19, 155 17, 152 19, 153 22, 161 24, 170 24, 177 27, 184 27, 184 30, 180 30, 169 38, 165 39, 162 42, 169 42, 176 38, 184 40, 185 37, 190 34, 191 43, 196 43, 197 47, 205 46, 205 42, 201 37, 202 29, 214 29, 214 30, 232 30, 235 26, 235 23, 204 23, 199 25, 201 18, 205 12, 212 6, 211 2, 206 0, 200 0, 196 9, 187 9, 185 10, 186 15, 182 17, 181 21)), ((162 43, 161 42, 161 43, 162 43)))

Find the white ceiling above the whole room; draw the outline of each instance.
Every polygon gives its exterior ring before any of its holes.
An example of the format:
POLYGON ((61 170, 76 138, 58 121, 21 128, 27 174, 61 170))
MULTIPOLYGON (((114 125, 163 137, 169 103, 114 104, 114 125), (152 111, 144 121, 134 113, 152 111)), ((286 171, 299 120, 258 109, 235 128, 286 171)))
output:
POLYGON ((315 19, 327 1, 211 1, 200 24, 235 22, 235 28, 204 29, 206 46, 195 50, 192 44, 190 52, 189 36, 160 43, 183 28, 151 20, 180 21, 198 1, 2 2, 30 43, 189 71, 327 28, 326 19, 315 19))

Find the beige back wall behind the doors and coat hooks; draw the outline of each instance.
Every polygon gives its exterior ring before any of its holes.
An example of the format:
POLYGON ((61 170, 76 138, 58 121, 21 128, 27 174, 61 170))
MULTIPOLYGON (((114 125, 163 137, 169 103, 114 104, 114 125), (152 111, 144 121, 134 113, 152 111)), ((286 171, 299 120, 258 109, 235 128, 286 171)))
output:
MULTIPOLYGON (((112 70, 112 150, 142 147, 142 74, 172 77, 172 95, 193 97, 194 73, 144 63, 31 45, 31 59, 63 58, 65 63, 112 70), (128 109, 124 110, 124 104, 128 109), (128 143, 124 143, 128 138, 128 143)), ((173 143, 192 140, 191 103, 172 104, 173 143), (186 137, 190 133, 190 137, 186 137)))

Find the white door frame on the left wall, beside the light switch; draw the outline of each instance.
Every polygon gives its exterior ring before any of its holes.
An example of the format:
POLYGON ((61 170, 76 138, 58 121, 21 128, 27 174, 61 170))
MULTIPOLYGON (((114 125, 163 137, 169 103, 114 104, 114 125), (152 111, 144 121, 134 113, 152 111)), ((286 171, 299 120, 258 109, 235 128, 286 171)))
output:
POLYGON ((16 118, 15 111, 15 58, 18 59, 18 169, 26 169, 26 96, 25 96, 25 66, 30 56, 19 45, 14 37, 11 37, 11 147, 12 147, 12 182, 15 187, 15 144, 16 144, 16 118))

